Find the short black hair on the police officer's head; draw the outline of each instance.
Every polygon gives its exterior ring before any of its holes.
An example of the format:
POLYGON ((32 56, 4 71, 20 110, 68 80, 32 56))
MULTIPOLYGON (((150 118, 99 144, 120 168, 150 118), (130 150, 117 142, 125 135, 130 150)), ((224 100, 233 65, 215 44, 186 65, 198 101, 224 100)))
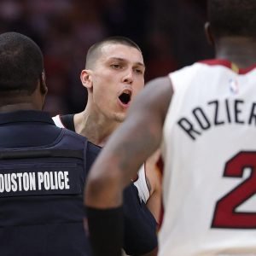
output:
POLYGON ((0 34, 0 93, 32 94, 43 72, 38 44, 18 32, 0 34))

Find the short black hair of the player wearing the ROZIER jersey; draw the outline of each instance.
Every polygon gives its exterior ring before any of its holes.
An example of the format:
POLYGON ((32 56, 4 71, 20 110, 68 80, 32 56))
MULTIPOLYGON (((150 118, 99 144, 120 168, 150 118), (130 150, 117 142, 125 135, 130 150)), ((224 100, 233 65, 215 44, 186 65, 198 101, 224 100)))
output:
POLYGON ((207 5, 215 36, 256 36, 255 0, 208 0, 207 5))

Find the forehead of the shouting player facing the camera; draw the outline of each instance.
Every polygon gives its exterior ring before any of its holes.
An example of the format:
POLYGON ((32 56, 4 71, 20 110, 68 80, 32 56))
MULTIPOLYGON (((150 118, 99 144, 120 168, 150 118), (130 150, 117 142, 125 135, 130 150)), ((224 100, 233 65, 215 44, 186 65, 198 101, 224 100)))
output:
POLYGON ((144 65, 142 53, 135 47, 126 44, 103 44, 100 50, 101 61, 123 60, 144 65))

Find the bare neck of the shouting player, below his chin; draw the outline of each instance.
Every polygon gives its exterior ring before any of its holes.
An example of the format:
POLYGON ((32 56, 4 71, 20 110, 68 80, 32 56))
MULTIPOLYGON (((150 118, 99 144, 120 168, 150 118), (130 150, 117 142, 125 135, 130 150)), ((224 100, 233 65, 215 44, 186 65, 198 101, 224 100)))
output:
POLYGON ((101 114, 84 112, 74 115, 75 131, 87 137, 91 143, 103 147, 108 137, 117 128, 117 124, 101 114))

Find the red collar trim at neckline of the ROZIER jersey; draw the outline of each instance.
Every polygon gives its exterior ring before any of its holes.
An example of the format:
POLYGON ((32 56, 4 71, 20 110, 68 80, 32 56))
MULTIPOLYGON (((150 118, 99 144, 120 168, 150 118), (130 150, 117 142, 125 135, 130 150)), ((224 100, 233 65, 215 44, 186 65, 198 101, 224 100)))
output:
POLYGON ((228 61, 228 60, 221 60, 221 59, 212 59, 212 60, 205 60, 205 61, 198 61, 199 63, 204 63, 207 65, 220 65, 224 67, 230 68, 232 71, 239 73, 239 74, 246 74, 252 71, 254 68, 256 68, 256 64, 246 67, 246 68, 239 68, 236 66, 235 63, 228 61))

